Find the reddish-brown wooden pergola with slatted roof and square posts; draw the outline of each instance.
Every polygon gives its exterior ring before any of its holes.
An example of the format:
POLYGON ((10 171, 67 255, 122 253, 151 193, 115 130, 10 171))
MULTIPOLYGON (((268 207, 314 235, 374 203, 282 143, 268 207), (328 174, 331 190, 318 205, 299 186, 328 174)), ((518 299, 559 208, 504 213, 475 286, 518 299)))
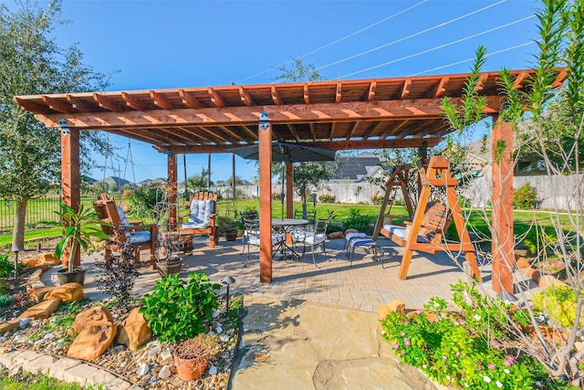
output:
MULTIPOLYGON (((532 70, 515 70, 522 90, 532 70)), ((79 132, 99 130, 148 142, 168 156, 170 199, 176 199, 179 153, 225 153, 259 147, 260 234, 270 238, 271 142, 307 142, 335 150, 425 148, 451 132, 441 100, 460 102, 468 74, 357 79, 172 90, 16 96, 47 128, 61 131, 63 201, 79 206, 79 132)), ((497 72, 480 75, 477 88, 493 117, 493 142, 513 144, 511 126, 499 119, 503 100, 497 72)), ((566 77, 558 71, 555 87, 566 77)), ((495 148, 493 148, 495 150, 495 148)), ((513 292, 513 166, 511 148, 493 159, 494 289, 513 292)), ((293 166, 287 164, 287 215, 292 213, 293 166)), ((177 222, 176 209, 171 223, 177 222)), ((272 280, 271 242, 262 239, 260 280, 272 280)))

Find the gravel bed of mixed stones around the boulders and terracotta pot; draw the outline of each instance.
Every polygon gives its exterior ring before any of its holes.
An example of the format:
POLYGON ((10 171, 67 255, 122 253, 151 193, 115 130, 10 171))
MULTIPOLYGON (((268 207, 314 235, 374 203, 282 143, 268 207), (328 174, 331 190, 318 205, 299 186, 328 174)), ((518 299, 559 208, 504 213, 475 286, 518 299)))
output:
MULTIPOLYGON (((208 324, 208 334, 215 341, 209 364, 197 380, 185 382, 178 377, 172 361, 173 345, 160 343, 156 337, 136 352, 114 342, 106 353, 90 363, 148 389, 226 389, 234 363, 239 324, 226 318, 223 298, 220 297, 219 310, 214 311, 214 319, 208 324)), ((103 303, 106 302, 82 301, 80 308, 86 310, 103 303)), ((110 311, 119 324, 130 309, 114 306, 110 311)), ((17 312, 14 314, 16 317, 17 312)), ((57 311, 47 320, 30 321, 24 329, 0 335, 0 345, 65 356, 73 341, 69 318, 74 316, 57 311)))

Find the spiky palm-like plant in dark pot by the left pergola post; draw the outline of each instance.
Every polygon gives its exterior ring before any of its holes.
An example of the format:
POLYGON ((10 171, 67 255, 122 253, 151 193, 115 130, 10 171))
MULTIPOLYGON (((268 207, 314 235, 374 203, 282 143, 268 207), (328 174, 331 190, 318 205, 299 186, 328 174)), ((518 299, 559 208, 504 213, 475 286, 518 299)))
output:
POLYGON ((60 204, 59 208, 60 211, 55 213, 60 220, 45 222, 48 225, 63 227, 65 230, 64 236, 55 248, 55 256, 63 263, 63 269, 57 271, 57 279, 60 284, 75 281, 82 285, 88 270, 80 265, 75 266, 78 250, 93 248, 91 241, 93 238, 101 241, 109 236, 101 229, 105 223, 99 220, 93 210, 86 209, 83 205, 79 206, 79 211, 65 204, 60 204))

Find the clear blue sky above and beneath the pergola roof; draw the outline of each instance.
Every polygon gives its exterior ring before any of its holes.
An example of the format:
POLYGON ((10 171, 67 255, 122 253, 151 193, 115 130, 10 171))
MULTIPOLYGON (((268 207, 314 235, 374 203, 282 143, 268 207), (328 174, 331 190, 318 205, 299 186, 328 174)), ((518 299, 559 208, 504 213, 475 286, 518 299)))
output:
MULTIPOLYGON (((313 64, 324 79, 391 78, 467 72, 478 45, 493 53, 485 70, 526 69, 537 39, 530 16, 539 6, 530 0, 65 0, 62 17, 70 23, 55 33, 61 46, 77 42, 96 71, 119 71, 108 90, 270 83, 275 68, 292 58, 313 64)), ((123 177, 125 168, 133 181, 123 161, 128 140, 111 140, 120 148, 115 169, 123 177)), ((131 141, 131 155, 136 181, 166 177, 165 155, 151 145, 131 141)), ((183 157, 178 161, 182 179, 183 157)), ((187 155, 189 175, 206 164, 206 154, 187 155)), ((255 163, 237 157, 236 174, 254 177, 255 163)), ((212 180, 230 175, 231 154, 214 154, 212 180)), ((104 172, 94 169, 92 176, 104 172)))

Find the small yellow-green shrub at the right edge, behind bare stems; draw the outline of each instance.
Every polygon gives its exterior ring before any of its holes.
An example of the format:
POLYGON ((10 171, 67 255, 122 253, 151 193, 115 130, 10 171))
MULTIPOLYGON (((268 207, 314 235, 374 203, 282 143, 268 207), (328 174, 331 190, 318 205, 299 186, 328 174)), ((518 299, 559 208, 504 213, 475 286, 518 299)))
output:
MULTIPOLYGON (((560 325, 566 328, 574 325, 578 300, 576 292, 570 286, 549 286, 546 290, 535 294, 531 301, 534 310, 546 312, 560 325)), ((579 326, 581 325, 580 315, 579 326)))

